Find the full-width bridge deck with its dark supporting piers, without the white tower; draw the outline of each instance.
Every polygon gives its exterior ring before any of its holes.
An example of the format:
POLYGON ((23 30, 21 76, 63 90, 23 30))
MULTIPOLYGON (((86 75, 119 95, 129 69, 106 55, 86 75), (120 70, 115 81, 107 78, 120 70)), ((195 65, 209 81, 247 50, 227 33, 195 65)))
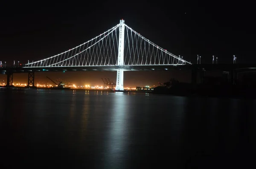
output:
POLYGON ((35 87, 35 72, 57 72, 57 71, 170 71, 170 70, 191 70, 191 83, 197 84, 198 73, 200 82, 204 77, 204 72, 208 70, 221 70, 223 73, 230 73, 231 81, 236 83, 237 73, 256 71, 256 64, 200 64, 200 65, 147 65, 147 66, 74 66, 74 67, 8 67, 0 68, 1 74, 7 75, 6 87, 11 87, 13 82, 13 73, 28 73, 27 87, 35 87))

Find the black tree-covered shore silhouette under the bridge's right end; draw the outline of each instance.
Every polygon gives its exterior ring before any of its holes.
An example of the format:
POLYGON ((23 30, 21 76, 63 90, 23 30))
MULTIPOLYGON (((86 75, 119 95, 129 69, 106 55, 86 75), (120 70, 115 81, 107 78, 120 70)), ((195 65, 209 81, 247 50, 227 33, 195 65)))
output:
POLYGON ((256 94, 256 74, 249 73, 243 76, 236 84, 223 77, 204 77, 201 84, 179 82, 170 79, 163 85, 155 87, 152 93, 178 96, 225 96, 250 97, 256 94))

